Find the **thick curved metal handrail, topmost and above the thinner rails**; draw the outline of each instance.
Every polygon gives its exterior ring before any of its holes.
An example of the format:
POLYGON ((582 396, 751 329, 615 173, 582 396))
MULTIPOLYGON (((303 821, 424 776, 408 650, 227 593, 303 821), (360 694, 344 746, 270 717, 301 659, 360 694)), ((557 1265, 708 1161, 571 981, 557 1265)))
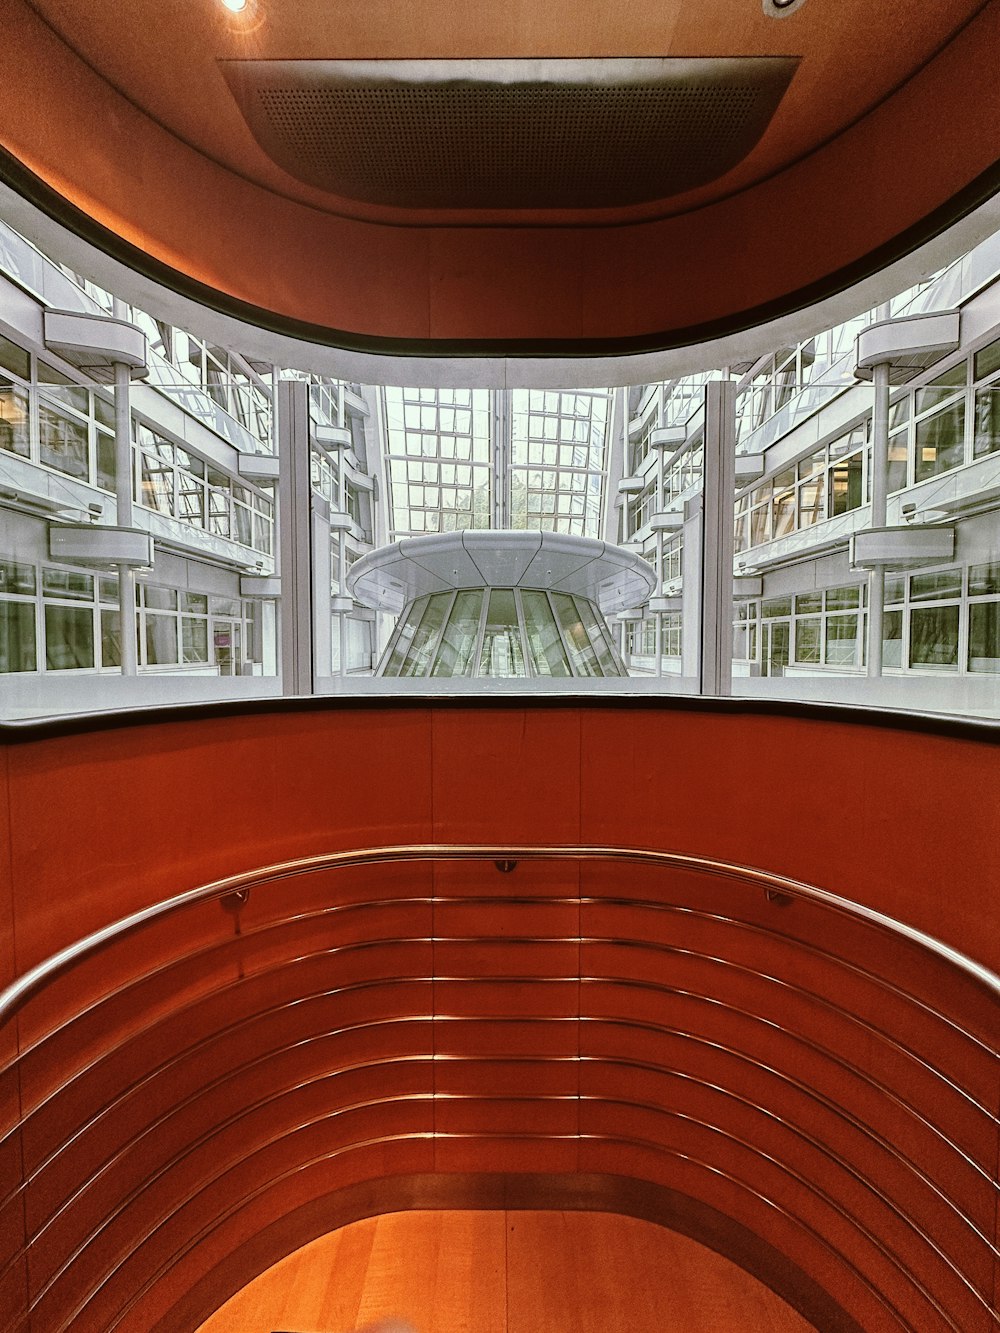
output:
POLYGON ((695 870, 701 874, 712 874, 721 878, 735 880, 741 884, 752 884, 772 893, 789 894, 815 902, 829 910, 837 912, 864 925, 875 926, 896 938, 916 944, 927 949, 937 958, 964 973, 971 981, 983 986, 995 1000, 1000 1000, 1000 976, 989 968, 971 958, 968 954, 944 944, 935 936, 927 934, 916 926, 897 921, 895 917, 875 908, 864 906, 844 898, 827 889, 805 884, 801 880, 792 880, 783 874, 773 874, 757 866, 739 865, 733 861, 720 861, 711 857, 691 856, 681 852, 659 852, 649 848, 629 846, 596 846, 563 844, 555 846, 496 846, 481 844, 436 844, 416 842, 400 844, 380 848, 359 848, 347 852, 327 852, 320 856, 299 857, 292 861, 279 861, 273 865, 261 866, 256 870, 244 870, 239 874, 229 874, 221 880, 213 880, 195 889, 187 889, 173 897, 163 898, 129 916, 120 917, 109 925, 95 930, 81 940, 67 945, 57 953, 44 958, 36 966, 29 968, 4 990, 0 992, 0 1026, 8 1022, 24 1005, 39 992, 44 990, 59 977, 72 970, 77 964, 84 962, 105 949, 136 934, 147 925, 161 921, 165 917, 196 906, 200 902, 211 902, 215 898, 243 893, 249 889, 260 889, 269 884, 279 884, 283 880, 297 878, 304 874, 316 874, 321 870, 351 869, 365 865, 385 865, 401 861, 620 861, 643 865, 669 866, 672 869, 695 870))

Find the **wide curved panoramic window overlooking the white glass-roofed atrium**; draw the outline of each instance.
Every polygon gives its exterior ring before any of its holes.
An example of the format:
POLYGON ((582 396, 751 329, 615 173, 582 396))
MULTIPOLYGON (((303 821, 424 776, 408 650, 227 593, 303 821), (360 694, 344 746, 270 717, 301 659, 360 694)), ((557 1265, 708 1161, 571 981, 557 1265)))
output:
POLYGON ((999 299, 1000 235, 739 365, 372 385, 116 304, 5 229, 3 706, 603 689, 1000 716, 999 299), (144 335, 127 412, 107 365, 45 345, 53 305, 144 335), (876 412, 859 335, 953 311, 876 412))

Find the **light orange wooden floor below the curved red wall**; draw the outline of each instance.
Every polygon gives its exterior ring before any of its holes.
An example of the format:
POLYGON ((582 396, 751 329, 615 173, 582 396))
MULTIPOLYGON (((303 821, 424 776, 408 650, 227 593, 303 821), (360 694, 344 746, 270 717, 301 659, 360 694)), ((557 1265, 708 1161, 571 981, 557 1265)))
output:
POLYGON ((341 1333, 381 1320, 416 1333, 812 1329, 728 1260, 649 1222, 412 1212, 355 1222, 289 1254, 200 1333, 341 1333))

